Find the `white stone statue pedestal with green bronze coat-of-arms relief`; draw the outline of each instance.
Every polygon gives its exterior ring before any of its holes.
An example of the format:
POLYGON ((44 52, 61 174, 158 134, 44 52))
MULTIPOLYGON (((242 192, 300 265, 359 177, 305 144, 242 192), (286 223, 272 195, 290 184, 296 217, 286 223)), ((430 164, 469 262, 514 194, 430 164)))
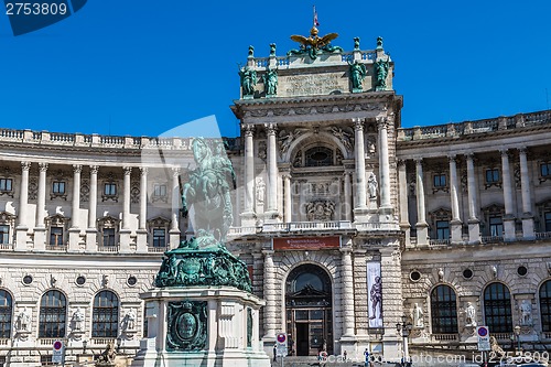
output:
POLYGON ((132 367, 269 367, 259 337, 263 301, 234 287, 155 288, 147 304, 148 338, 132 367))

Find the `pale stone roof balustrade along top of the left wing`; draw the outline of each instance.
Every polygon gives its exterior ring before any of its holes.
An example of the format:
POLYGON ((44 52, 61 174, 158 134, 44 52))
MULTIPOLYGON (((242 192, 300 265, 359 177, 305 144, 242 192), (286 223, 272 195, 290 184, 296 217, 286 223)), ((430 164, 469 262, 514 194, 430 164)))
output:
MULTIPOLYGON (((223 140, 229 150, 241 149, 240 138, 223 138, 223 140)), ((115 137, 97 133, 83 134, 0 129, 0 142, 2 141, 83 148, 191 150, 193 138, 115 137)))

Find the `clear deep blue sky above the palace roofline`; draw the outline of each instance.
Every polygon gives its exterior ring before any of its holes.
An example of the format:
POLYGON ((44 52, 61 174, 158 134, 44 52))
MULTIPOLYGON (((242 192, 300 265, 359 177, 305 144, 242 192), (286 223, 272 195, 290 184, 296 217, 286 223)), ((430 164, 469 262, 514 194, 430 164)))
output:
MULTIPOLYGON (((0 14, 0 127, 158 136, 229 110, 249 44, 278 55, 306 35, 311 1, 89 0, 68 19, 13 36, 0 14)), ((385 39, 403 96, 402 126, 549 108, 551 3, 534 1, 316 1, 322 34, 345 51, 385 39)))

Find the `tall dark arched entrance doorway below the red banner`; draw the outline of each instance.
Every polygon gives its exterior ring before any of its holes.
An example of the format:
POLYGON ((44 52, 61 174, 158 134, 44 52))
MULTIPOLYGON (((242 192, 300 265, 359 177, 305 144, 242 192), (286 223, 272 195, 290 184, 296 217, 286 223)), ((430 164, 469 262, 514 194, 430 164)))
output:
POLYGON ((331 279, 322 268, 306 263, 296 267, 285 283, 287 332, 289 347, 298 356, 317 355, 325 348, 333 354, 333 313, 331 279))

